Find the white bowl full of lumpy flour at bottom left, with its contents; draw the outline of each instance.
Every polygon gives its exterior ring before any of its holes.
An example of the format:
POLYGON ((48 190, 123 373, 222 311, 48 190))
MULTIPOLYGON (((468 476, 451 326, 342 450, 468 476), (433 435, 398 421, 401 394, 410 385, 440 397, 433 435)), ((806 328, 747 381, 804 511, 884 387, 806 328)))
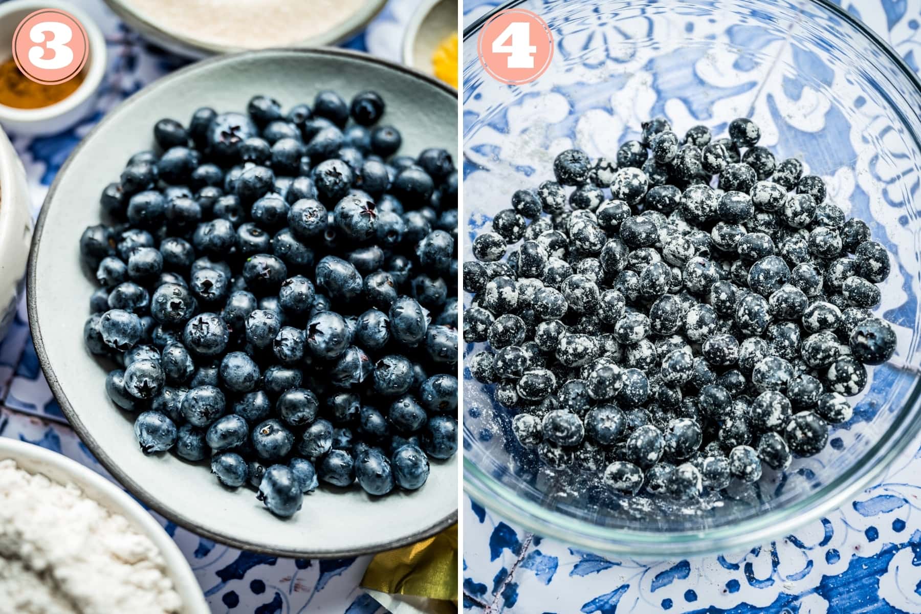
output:
POLYGON ((189 563, 143 507, 70 458, 0 437, 0 611, 204 614, 189 563))

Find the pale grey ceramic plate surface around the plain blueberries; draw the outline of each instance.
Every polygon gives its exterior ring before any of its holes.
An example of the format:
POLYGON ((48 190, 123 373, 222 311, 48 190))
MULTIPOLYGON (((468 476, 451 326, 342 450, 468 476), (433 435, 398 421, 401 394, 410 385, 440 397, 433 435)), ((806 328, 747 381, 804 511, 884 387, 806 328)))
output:
POLYGON ((426 485, 372 501, 360 489, 319 491, 280 520, 248 488, 231 492, 203 466, 164 455, 147 458, 130 415, 104 389, 106 371, 83 346, 94 284, 78 261, 83 229, 99 223, 99 192, 134 152, 150 148, 158 119, 182 121, 208 105, 242 110, 253 94, 286 107, 332 88, 346 99, 364 89, 387 102, 383 122, 399 126, 402 151, 426 146, 457 151, 454 91, 424 75, 356 52, 274 50, 207 60, 164 77, 112 110, 58 172, 29 255, 29 323, 45 377, 89 449, 144 503, 212 539, 248 550, 302 557, 342 557, 423 539, 457 519, 457 458, 432 463, 426 485))

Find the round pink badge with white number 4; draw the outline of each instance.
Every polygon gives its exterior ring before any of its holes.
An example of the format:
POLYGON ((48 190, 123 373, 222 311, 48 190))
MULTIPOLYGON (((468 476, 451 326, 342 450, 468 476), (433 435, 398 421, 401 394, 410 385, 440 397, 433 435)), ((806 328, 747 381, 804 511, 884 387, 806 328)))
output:
POLYGON ((554 36, 547 22, 523 8, 509 8, 490 17, 480 29, 476 46, 485 71, 512 86, 543 75, 554 57, 554 36))

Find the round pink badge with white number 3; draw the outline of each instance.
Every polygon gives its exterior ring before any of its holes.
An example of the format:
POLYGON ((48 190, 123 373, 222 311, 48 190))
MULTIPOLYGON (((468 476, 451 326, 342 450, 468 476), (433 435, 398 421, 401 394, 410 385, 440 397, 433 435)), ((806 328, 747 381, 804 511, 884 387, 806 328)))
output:
POLYGON ((53 85, 74 78, 89 56, 87 30, 59 8, 42 8, 19 22, 13 59, 32 81, 53 85))

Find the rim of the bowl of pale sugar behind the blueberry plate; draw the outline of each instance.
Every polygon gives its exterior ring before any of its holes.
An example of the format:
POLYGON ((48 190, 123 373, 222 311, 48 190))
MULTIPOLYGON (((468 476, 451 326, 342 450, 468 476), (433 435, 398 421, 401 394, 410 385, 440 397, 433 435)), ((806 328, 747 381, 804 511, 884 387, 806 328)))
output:
MULTIPOLYGON (((106 4, 117 13, 119 17, 129 22, 130 26, 140 30, 141 34, 147 34, 147 32, 149 32, 153 35, 150 38, 176 41, 180 43, 182 47, 189 48, 200 56, 213 55, 216 53, 261 51, 257 49, 248 50, 245 47, 233 45, 218 45, 210 42, 196 41, 195 39, 183 36, 174 31, 161 28, 145 15, 134 10, 130 2, 125 2, 124 0, 106 0, 106 4)), ((291 46, 295 46, 296 48, 309 48, 315 45, 330 45, 339 41, 345 41, 367 26, 374 17, 378 16, 379 12, 382 11, 386 5, 387 0, 368 0, 365 6, 362 6, 354 15, 345 19, 345 21, 334 28, 305 41, 286 43, 288 45, 287 48, 291 48, 291 46)))

